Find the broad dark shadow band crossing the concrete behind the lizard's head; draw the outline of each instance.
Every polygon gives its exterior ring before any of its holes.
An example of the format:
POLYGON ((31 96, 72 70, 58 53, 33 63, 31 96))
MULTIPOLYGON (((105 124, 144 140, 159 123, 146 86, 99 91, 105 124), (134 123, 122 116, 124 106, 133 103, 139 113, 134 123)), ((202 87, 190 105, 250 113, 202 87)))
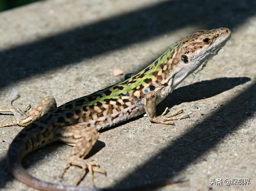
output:
MULTIPOLYGON (((0 88, 186 26, 232 30, 255 10, 256 2, 251 0, 172 0, 80 26, 0 52, 0 88)), ((145 63, 145 67, 149 64, 145 63)))

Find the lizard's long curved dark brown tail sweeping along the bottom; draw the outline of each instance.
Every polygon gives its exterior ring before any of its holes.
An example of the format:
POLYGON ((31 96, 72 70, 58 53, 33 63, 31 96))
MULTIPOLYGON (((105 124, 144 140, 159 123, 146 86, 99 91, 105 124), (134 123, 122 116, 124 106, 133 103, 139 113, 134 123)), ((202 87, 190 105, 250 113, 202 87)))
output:
POLYGON ((51 143, 54 140, 54 136, 48 136, 47 139, 40 139, 37 136, 40 134, 36 133, 24 133, 26 129, 32 129, 33 126, 29 125, 25 127, 12 141, 10 148, 7 153, 7 166, 11 174, 19 181, 27 184, 36 189, 45 191, 135 191, 135 190, 145 190, 145 188, 152 188, 157 186, 164 186, 166 184, 174 184, 177 182, 182 182, 182 179, 162 181, 152 184, 146 184, 142 186, 133 186, 128 188, 90 188, 90 187, 80 187, 80 186, 69 186, 62 184, 54 184, 51 182, 42 181, 36 177, 31 176, 21 165, 21 160, 29 152, 36 150, 42 146, 51 143), (50 138, 53 137, 53 138, 50 138))

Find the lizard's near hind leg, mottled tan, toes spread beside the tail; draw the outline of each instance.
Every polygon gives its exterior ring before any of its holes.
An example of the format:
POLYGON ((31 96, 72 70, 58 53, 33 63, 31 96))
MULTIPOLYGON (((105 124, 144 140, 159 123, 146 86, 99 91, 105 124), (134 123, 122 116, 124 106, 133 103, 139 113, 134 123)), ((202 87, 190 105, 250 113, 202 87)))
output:
POLYGON ((71 152, 67 156, 67 164, 62 170, 61 178, 64 176, 66 169, 68 169, 71 165, 75 165, 81 167, 82 172, 78 176, 75 185, 78 185, 80 181, 86 174, 86 171, 89 171, 90 181, 94 186, 93 182, 93 172, 100 172, 102 174, 106 174, 106 172, 102 169, 95 168, 99 167, 97 162, 86 162, 84 158, 93 145, 95 145, 97 139, 99 138, 99 133, 95 129, 91 129, 89 127, 80 126, 80 125, 72 125, 63 127, 60 133, 60 140, 68 145, 74 145, 71 152))

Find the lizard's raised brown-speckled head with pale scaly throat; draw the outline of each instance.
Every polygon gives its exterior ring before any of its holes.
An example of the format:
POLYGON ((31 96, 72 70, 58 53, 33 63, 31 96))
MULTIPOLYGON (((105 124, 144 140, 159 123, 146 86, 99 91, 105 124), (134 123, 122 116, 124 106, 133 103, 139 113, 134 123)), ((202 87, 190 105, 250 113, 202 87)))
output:
POLYGON ((176 46, 176 51, 173 51, 173 62, 170 64, 171 72, 168 76, 171 89, 173 90, 201 65, 203 69, 230 37, 231 31, 228 28, 200 30, 173 45, 176 46))

